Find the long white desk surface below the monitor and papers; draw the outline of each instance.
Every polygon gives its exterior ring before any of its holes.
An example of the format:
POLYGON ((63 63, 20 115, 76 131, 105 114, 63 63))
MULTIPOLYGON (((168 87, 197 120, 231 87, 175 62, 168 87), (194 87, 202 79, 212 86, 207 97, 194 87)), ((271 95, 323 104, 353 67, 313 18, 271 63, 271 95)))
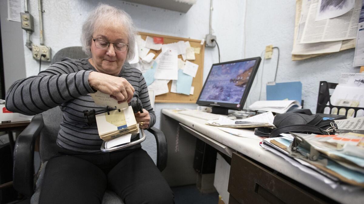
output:
MULTIPOLYGON (((315 191, 330 197, 340 203, 348 204, 363 204, 364 203, 364 190, 347 192, 337 187, 332 189, 323 181, 317 180, 313 176, 299 170, 290 163, 286 162, 283 158, 274 155, 272 152, 264 150, 259 143, 261 139, 243 138, 240 136, 231 135, 227 132, 219 130, 215 126, 205 125, 206 120, 194 118, 188 115, 178 114, 170 109, 162 109, 162 114, 165 114, 182 124, 233 148, 234 150, 292 178, 315 191)), ((254 135, 252 130, 246 130, 247 135, 254 135)))

